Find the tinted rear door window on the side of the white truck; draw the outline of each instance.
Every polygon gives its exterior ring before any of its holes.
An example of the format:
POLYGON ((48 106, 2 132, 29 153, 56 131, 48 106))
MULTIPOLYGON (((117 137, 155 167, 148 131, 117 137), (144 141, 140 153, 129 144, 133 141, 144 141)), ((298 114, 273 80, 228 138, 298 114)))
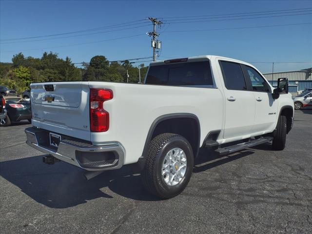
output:
POLYGON ((225 87, 229 90, 247 90, 246 81, 239 63, 220 61, 225 87))

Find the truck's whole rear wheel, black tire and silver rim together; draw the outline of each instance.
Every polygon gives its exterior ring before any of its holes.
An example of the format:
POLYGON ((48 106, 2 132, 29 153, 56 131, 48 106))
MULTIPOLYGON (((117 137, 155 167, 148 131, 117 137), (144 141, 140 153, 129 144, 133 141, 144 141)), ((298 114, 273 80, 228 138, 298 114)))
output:
POLYGON ((189 183, 194 165, 192 146, 182 136, 164 133, 150 142, 142 180, 152 194, 168 199, 189 183))

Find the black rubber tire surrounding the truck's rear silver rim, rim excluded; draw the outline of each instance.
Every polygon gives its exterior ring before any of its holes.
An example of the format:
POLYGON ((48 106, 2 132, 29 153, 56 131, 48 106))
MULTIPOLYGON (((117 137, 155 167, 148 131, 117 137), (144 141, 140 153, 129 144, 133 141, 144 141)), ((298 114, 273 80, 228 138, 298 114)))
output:
POLYGON ((187 139, 171 133, 160 134, 154 137, 149 144, 145 168, 141 174, 144 187, 150 193, 163 199, 179 195, 191 179, 193 165, 193 150, 187 139), (180 148, 184 151, 187 159, 187 166, 181 181, 176 185, 170 186, 164 181, 161 170, 165 156, 174 148, 180 148))

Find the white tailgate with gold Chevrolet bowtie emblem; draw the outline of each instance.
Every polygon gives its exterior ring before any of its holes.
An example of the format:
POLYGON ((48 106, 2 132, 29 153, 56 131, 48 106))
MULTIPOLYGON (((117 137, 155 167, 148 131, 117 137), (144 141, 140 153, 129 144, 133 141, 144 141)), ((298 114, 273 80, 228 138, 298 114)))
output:
POLYGON ((88 103, 88 82, 31 84, 32 124, 35 127, 90 140, 88 103))

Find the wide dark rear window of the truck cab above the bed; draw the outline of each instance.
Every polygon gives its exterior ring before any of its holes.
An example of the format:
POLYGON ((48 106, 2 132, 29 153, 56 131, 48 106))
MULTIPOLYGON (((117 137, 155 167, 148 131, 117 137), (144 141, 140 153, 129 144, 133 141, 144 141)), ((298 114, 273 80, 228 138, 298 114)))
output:
POLYGON ((175 86, 213 85, 213 78, 208 61, 184 62, 151 66, 145 83, 175 86))

